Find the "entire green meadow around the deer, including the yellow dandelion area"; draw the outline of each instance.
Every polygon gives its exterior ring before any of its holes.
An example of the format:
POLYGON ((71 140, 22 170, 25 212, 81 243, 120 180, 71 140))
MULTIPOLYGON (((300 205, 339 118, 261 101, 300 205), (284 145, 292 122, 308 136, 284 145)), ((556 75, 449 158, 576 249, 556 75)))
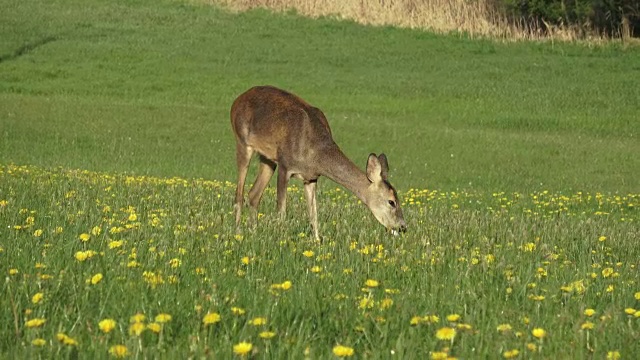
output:
POLYGON ((640 356, 640 49, 0 7, 0 358, 640 356), (409 231, 327 179, 323 242, 296 181, 236 231, 228 112, 257 84, 384 151, 409 231))

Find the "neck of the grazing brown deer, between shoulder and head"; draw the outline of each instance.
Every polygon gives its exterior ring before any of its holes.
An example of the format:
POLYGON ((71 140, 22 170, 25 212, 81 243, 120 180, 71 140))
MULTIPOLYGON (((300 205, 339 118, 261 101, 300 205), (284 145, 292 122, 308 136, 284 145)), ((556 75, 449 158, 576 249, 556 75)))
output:
POLYGON ((367 175, 349 160, 337 145, 323 152, 318 163, 321 175, 344 186, 354 193, 360 201, 367 203, 364 196, 370 184, 367 175))

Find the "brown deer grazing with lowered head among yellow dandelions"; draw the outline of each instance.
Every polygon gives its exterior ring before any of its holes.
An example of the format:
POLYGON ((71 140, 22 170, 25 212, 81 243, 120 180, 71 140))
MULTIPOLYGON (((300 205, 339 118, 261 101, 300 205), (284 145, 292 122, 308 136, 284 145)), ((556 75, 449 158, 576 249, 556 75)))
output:
POLYGON ((289 179, 302 179, 316 239, 320 238, 316 208, 316 183, 320 176, 326 176, 353 192, 394 235, 398 231, 406 231, 398 195, 387 181, 387 157, 370 154, 366 173, 360 170, 333 141, 329 123, 320 109, 284 90, 256 86, 233 102, 231 126, 236 136, 238 165, 234 204, 236 226, 240 224, 249 162, 257 152, 260 167, 249 191, 249 206, 256 212, 262 193, 277 167, 278 212, 284 216, 289 179))

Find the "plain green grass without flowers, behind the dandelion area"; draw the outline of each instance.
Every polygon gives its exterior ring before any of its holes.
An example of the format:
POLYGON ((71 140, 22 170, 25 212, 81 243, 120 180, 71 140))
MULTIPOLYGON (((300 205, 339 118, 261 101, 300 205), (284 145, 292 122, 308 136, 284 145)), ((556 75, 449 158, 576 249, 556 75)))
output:
POLYGON ((400 189, 640 189, 638 48, 176 1, 2 5, 4 163, 233 179, 231 102, 274 84, 322 108, 357 163, 386 152, 400 189))

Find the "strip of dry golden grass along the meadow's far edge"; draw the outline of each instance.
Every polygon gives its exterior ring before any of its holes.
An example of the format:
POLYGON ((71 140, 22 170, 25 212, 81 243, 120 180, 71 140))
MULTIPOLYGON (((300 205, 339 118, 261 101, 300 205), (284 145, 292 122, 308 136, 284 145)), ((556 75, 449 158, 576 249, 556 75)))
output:
MULTIPOLYGON (((546 24, 509 23, 487 0, 197 0, 224 5, 233 11, 262 7, 295 9, 309 17, 336 16, 366 25, 392 25, 437 33, 466 33, 471 37, 506 40, 554 39, 573 41, 584 36, 577 29, 546 24), (546 29, 546 31, 545 31, 546 29)), ((600 37, 596 37, 600 39, 600 37)), ((596 40, 596 38, 591 40, 596 40)))

